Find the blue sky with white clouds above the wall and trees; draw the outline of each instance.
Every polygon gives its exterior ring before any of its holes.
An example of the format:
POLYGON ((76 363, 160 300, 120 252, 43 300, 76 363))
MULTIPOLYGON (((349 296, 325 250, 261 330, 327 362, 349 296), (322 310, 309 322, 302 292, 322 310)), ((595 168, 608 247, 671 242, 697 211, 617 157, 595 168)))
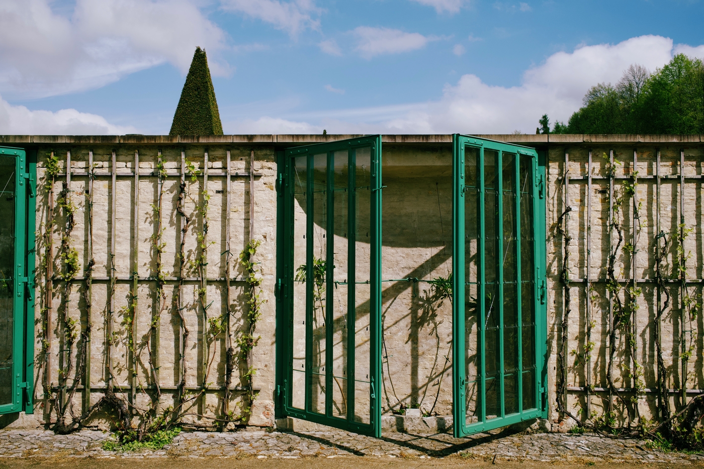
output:
POLYGON ((225 133, 534 132, 631 63, 704 57, 702 1, 4 0, 0 133, 168 133, 195 46, 225 133))

